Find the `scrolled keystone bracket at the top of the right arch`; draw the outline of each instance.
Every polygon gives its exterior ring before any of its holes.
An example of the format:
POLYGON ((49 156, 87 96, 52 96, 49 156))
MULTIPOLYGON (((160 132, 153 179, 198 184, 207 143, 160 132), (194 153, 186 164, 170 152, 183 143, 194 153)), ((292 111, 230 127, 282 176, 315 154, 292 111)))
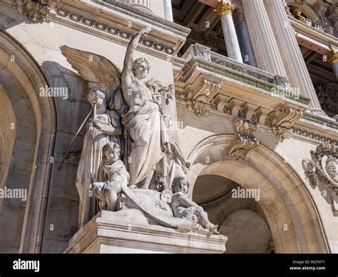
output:
POLYGON ((229 155, 236 160, 244 160, 250 151, 257 148, 260 143, 255 138, 258 124, 247 119, 235 119, 235 141, 229 149, 229 155))

